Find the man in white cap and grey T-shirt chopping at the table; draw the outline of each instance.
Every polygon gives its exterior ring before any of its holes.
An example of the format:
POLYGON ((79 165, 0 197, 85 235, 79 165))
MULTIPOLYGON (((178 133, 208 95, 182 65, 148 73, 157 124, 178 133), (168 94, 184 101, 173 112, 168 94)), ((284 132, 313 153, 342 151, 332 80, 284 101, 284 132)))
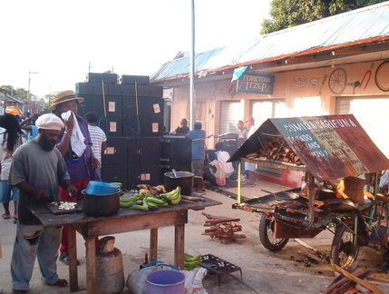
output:
POLYGON ((61 242, 61 228, 44 227, 27 209, 58 201, 58 186, 71 195, 71 185, 63 155, 55 148, 63 122, 54 114, 44 114, 36 122, 38 134, 14 153, 9 183, 19 189, 18 222, 11 260, 12 293, 24 293, 34 270, 35 255, 39 261, 42 281, 50 286, 66 287, 59 279, 56 260, 61 242))

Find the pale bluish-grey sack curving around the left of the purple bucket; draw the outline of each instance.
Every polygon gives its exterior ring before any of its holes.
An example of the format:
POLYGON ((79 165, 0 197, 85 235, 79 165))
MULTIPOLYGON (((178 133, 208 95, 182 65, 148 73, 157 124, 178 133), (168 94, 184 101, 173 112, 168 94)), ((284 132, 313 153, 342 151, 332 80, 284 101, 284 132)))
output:
POLYGON ((133 294, 147 294, 147 275, 154 270, 163 270, 164 266, 170 267, 173 270, 179 270, 179 268, 161 261, 151 261, 144 265, 141 270, 133 270, 131 274, 128 275, 126 280, 127 288, 130 289, 133 294))

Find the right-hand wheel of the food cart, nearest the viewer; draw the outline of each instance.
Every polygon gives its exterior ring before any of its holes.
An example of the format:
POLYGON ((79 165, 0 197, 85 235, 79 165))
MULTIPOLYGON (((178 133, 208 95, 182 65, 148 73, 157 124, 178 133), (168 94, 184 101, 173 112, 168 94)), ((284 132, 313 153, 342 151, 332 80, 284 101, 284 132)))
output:
POLYGON ((359 245, 354 247, 356 235, 348 230, 354 227, 354 220, 346 220, 345 224, 340 224, 336 228, 334 240, 331 246, 331 265, 337 265, 341 268, 350 266, 358 256, 359 245), (346 225, 345 225, 346 224, 346 225), (348 228, 347 228, 348 227, 348 228))

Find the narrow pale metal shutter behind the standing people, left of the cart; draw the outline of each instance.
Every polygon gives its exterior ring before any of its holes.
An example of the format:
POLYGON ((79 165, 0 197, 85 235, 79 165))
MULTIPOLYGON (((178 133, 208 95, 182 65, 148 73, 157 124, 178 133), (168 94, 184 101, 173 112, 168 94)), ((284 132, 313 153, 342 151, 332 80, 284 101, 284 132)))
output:
POLYGON ((226 132, 238 132, 237 122, 242 118, 243 105, 240 101, 220 102, 219 134, 226 132))

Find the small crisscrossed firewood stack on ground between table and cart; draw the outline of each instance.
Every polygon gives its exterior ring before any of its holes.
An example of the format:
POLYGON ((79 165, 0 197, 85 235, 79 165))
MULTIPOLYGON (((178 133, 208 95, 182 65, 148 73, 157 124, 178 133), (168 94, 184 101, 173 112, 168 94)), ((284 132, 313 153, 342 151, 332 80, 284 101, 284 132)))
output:
POLYGON ((239 239, 246 238, 245 234, 237 233, 242 230, 242 226, 235 223, 235 221, 239 221, 240 219, 210 215, 205 212, 201 214, 208 219, 205 220, 204 227, 209 227, 202 235, 208 235, 212 240, 222 244, 229 244, 230 242, 241 244, 242 241, 239 239))

